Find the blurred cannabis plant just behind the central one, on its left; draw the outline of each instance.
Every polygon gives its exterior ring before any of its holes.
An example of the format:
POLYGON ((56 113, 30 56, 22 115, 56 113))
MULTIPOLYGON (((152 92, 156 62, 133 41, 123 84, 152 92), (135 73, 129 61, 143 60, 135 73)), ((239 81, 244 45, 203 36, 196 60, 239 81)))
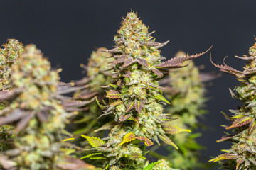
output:
MULTIPOLYGON (((109 52, 103 52, 106 50, 105 47, 100 47, 96 52, 92 52, 86 67, 84 64, 81 64, 81 67, 87 72, 87 76, 79 81, 74 81, 74 84, 78 87, 85 86, 86 89, 76 91, 74 94, 75 99, 90 102, 97 97, 101 101, 105 96, 105 91, 100 86, 110 84, 111 72, 107 72, 106 70, 108 69, 108 63, 113 61, 110 58, 111 54, 109 52)), ((94 130, 107 123, 107 120, 97 121, 97 118, 102 114, 102 110, 97 106, 96 101, 89 103, 86 109, 86 111, 80 111, 73 119, 73 125, 70 129, 73 131, 75 137, 81 134, 96 135, 94 130)), ((78 140, 79 143, 83 142, 80 145, 84 147, 85 140, 81 140, 80 138, 78 140)))

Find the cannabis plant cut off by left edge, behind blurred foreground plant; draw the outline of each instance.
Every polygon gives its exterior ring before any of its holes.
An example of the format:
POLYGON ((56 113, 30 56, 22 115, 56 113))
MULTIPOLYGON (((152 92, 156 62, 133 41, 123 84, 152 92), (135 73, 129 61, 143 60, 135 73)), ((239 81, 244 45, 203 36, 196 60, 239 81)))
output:
MULTIPOLYGON (((9 77, 11 67, 16 62, 16 59, 23 52, 23 44, 15 39, 8 39, 0 49, 0 91, 11 89, 9 77)), ((4 103, 0 103, 0 111, 4 108, 4 103)), ((9 139, 16 136, 14 127, 11 125, 0 126, 0 152, 9 149, 9 139)))

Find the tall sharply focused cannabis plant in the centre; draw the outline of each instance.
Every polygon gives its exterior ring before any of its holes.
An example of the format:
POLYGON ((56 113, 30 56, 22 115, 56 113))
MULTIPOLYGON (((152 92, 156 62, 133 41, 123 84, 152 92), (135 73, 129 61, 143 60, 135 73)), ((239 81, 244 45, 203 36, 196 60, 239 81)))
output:
POLYGON ((127 13, 114 42, 116 47, 107 50, 114 57, 112 84, 106 92, 108 101, 106 105, 99 103, 104 110, 100 117, 112 114, 114 121, 98 129, 111 130, 103 139, 82 135, 97 150, 83 158, 104 159, 105 169, 139 169, 144 164, 144 149, 153 145, 153 140, 159 143, 159 137, 178 149, 167 134, 184 131, 172 124, 169 114, 163 113, 164 102, 169 101, 161 94, 159 80, 168 74, 166 69, 186 67, 183 62, 205 52, 161 62, 164 57, 158 49, 168 41, 155 42, 134 12, 127 13))

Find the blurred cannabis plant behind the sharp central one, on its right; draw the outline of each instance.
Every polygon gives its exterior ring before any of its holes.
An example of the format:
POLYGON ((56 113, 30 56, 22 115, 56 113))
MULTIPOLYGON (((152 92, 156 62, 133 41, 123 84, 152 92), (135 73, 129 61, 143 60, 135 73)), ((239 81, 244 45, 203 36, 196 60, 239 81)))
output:
MULTIPOLYGON (((184 55, 186 53, 180 51, 176 57, 184 55)), ((174 70, 169 77, 161 81, 164 86, 163 93, 171 103, 166 111, 177 118, 174 120, 175 125, 190 130, 198 128, 198 118, 206 113, 206 110, 203 110, 206 101, 203 81, 214 78, 215 75, 210 73, 200 74, 199 68, 191 62, 187 67, 174 70)), ((203 147, 195 140, 199 136, 201 133, 186 132, 171 136, 178 150, 173 147, 165 148, 169 150, 168 158, 175 168, 194 169, 200 165, 198 164, 199 149, 203 147)))

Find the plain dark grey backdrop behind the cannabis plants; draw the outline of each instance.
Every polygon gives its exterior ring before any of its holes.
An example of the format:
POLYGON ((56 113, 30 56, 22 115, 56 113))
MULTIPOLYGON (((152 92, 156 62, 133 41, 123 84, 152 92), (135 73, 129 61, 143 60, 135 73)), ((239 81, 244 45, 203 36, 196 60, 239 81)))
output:
MULTIPOLYGON (((161 55, 174 57, 178 50, 193 54, 203 52, 213 45, 210 52, 213 60, 226 62, 242 69, 245 62, 233 57, 247 55, 248 48, 255 40, 256 20, 254 0, 170 0, 170 1, 0 1, 0 42, 16 38, 23 44, 34 43, 49 58, 52 66, 63 68, 62 81, 80 79, 80 63, 87 63, 96 47, 111 48, 122 17, 129 11, 136 11, 146 26, 156 30, 153 36, 157 42, 170 40, 161 48, 161 55)), ((194 60, 196 65, 205 65, 205 72, 218 72, 210 63, 209 53, 194 60)), ((228 88, 233 89, 239 82, 228 74, 207 86, 210 114, 203 121, 209 126, 198 139, 203 150, 201 160, 221 154, 228 149, 228 142, 215 142, 227 125, 220 111, 228 113, 240 103, 231 98, 228 88)), ((228 113, 230 114, 230 113, 228 113)), ((217 168, 213 168, 217 169, 217 168)))

